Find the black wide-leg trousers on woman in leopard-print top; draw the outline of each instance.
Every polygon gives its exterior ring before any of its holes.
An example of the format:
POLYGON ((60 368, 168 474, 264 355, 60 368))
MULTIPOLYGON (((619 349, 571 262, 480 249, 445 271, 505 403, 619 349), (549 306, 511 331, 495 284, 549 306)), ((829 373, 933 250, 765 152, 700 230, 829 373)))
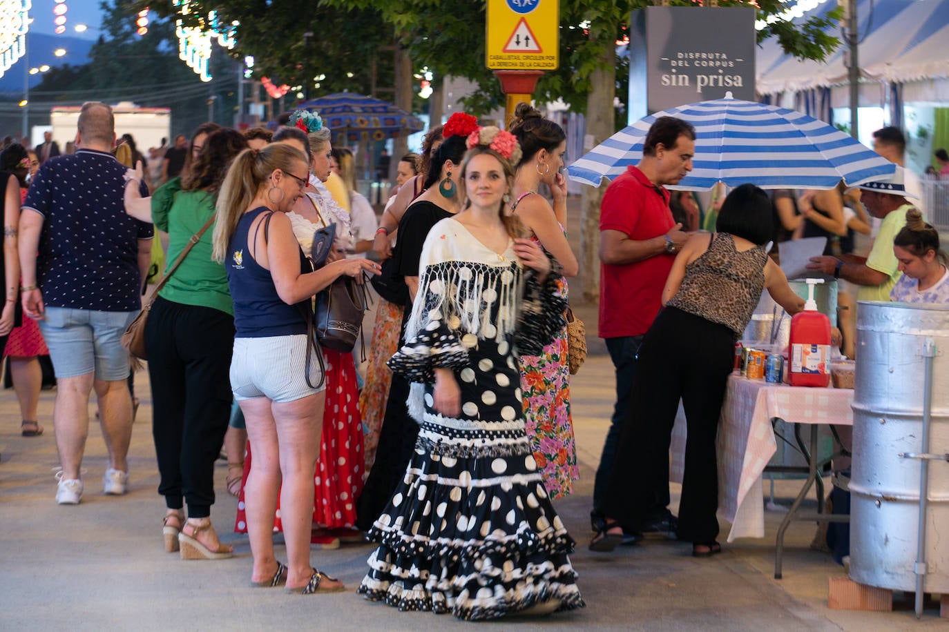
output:
POLYGON ((707 543, 718 534, 716 433, 734 360, 724 325, 666 308, 645 334, 629 391, 627 418, 602 504, 604 515, 640 531, 668 481, 669 442, 679 399, 688 439, 679 501, 679 539, 707 543))

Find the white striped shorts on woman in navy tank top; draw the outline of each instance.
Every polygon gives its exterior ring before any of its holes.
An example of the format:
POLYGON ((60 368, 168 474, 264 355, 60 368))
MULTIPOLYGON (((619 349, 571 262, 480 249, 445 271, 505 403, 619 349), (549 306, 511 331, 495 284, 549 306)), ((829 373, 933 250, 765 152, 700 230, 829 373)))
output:
MULTIPOLYGON (((309 382, 320 383, 319 351, 310 352, 309 382)), ((294 402, 324 389, 307 384, 307 335, 234 338, 231 389, 234 399, 266 397, 278 404, 294 402)))

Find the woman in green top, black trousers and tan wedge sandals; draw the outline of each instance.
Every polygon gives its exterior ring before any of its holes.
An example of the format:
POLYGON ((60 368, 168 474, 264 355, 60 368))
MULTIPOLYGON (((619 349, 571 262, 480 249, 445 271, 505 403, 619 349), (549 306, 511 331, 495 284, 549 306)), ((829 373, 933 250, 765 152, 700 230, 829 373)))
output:
MULTIPOLYGON (((217 190, 228 166, 246 148, 247 141, 239 132, 214 132, 192 169, 155 191, 151 219, 156 228, 168 233, 168 267, 214 215, 217 190)), ((126 207, 134 214, 134 205, 126 207)), ((211 259, 213 233, 214 225, 204 231, 158 292, 145 326, 152 434, 161 476, 158 494, 165 497, 167 506, 162 533, 165 551, 180 549, 182 559, 233 555, 231 547, 217 539, 210 517, 214 460, 231 411, 234 337, 227 273, 211 259)))

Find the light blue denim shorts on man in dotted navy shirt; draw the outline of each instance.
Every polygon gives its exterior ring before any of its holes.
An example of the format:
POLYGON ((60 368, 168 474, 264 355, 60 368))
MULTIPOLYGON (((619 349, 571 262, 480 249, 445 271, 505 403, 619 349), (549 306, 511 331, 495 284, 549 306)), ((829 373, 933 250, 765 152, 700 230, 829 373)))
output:
POLYGON ((138 312, 102 312, 47 307, 39 320, 57 378, 95 373, 95 379, 116 382, 128 377, 128 352, 121 334, 138 312))

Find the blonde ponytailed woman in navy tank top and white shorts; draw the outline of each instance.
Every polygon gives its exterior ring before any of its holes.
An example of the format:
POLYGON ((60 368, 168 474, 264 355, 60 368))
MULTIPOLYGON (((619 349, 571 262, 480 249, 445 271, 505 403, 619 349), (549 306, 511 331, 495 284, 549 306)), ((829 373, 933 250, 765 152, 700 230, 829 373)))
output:
POLYGON ((228 272, 236 330, 231 388, 253 443, 245 485, 251 586, 285 584, 288 591, 305 594, 335 592, 343 585, 309 563, 325 392, 315 352, 307 358, 302 308, 342 275, 360 279, 363 271, 379 272, 377 263, 365 259, 301 271, 307 260, 286 213, 303 195, 308 175, 306 156, 287 144, 240 153, 218 196, 213 252, 228 272), (287 566, 273 553, 278 489, 287 566))

